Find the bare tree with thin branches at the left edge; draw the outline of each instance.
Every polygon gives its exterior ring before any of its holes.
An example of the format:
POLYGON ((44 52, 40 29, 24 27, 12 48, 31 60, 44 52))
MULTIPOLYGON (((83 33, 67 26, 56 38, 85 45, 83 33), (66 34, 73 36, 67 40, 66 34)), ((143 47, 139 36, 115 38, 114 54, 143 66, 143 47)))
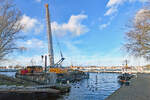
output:
POLYGON ((21 13, 9 0, 0 0, 0 60, 18 49, 15 45, 20 38, 21 13))

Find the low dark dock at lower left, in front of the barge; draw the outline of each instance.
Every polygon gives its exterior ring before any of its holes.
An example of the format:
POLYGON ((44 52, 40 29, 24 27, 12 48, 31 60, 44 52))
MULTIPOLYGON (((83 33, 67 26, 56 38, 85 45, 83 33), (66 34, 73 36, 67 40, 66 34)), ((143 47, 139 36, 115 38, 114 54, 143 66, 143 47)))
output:
POLYGON ((40 85, 37 82, 8 77, 0 74, 0 93, 50 93, 59 94, 70 91, 68 84, 40 85))

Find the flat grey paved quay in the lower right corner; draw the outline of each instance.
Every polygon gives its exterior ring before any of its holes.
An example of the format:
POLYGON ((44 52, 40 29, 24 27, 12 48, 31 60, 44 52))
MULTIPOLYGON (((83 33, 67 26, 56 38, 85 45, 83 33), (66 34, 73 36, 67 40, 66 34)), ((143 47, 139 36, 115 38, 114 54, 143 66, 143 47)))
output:
POLYGON ((149 100, 150 74, 138 74, 130 80, 129 86, 123 85, 105 100, 149 100))

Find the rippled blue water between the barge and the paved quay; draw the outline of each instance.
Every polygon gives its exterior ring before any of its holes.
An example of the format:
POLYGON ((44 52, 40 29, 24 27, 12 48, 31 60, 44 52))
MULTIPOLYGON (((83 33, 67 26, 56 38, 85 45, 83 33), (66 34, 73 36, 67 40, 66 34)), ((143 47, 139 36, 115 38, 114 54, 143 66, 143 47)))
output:
POLYGON ((7 96, 5 99, 9 100, 10 98, 15 97, 14 99, 16 100, 104 100, 120 87, 119 83, 117 82, 118 75, 119 74, 112 73, 90 73, 89 79, 72 83, 71 91, 57 99, 46 94, 40 94, 40 96, 35 94, 21 94, 17 96, 16 94, 9 94, 9 96, 7 96), (39 97, 42 97, 42 99, 39 97))

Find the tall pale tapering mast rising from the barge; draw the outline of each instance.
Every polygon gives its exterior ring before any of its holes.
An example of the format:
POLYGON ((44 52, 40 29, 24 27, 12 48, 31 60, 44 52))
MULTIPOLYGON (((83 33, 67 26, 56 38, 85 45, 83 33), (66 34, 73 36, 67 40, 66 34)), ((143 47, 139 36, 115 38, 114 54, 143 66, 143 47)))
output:
POLYGON ((49 15, 48 4, 45 4, 45 7, 46 7, 49 63, 50 63, 50 67, 52 67, 52 66, 54 66, 54 54, 53 54, 53 42, 52 42, 52 32, 51 32, 51 24, 50 24, 50 15, 49 15))

